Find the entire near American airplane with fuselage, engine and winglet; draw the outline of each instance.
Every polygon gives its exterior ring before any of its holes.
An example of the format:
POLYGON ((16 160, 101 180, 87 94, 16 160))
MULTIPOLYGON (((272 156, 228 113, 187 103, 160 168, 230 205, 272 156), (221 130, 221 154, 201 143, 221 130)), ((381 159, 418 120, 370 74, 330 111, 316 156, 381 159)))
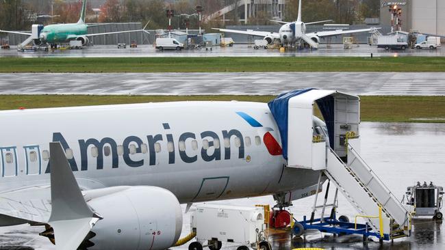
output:
POLYGON ((181 234, 180 204, 290 201, 319 180, 285 167, 266 103, 22 109, 0 120, 0 226, 44 225, 58 250, 167 249, 181 234))

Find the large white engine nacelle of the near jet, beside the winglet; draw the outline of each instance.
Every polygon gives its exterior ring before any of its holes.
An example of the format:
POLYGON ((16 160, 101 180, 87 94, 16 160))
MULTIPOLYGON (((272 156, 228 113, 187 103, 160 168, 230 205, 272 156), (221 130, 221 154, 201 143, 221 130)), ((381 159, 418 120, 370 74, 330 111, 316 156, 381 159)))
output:
POLYGON ((92 199, 88 205, 103 219, 79 249, 161 250, 175 245, 181 235, 181 206, 166 189, 131 187, 92 199))

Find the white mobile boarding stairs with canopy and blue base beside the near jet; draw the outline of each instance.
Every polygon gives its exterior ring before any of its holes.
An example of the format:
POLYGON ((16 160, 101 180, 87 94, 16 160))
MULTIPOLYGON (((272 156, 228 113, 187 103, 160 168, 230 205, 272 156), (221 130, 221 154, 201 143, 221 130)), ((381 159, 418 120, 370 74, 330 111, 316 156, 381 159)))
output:
MULTIPOLYGON (((357 210, 357 216, 365 219, 364 236, 394 240, 410 235, 411 213, 359 155, 358 96, 303 89, 277 97, 269 107, 279 125, 287 167, 322 171, 357 210), (329 139, 314 136, 315 104, 325 119, 329 139), (283 115, 284 106, 287 106, 287 115, 283 115), (283 133, 287 133, 287 137, 283 137, 283 133), (373 234, 368 234, 368 228, 373 234)), ((342 227, 341 223, 336 226, 342 227)))

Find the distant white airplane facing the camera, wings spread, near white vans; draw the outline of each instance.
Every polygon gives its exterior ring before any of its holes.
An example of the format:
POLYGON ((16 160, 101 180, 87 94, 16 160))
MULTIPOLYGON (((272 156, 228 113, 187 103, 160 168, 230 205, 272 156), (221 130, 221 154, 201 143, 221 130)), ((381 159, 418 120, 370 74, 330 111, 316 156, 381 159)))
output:
POLYGON ((248 29, 246 31, 240 31, 236 29, 216 29, 223 32, 228 33, 240 33, 249 36, 260 36, 263 37, 264 40, 268 42, 268 44, 273 44, 274 42, 279 42, 279 44, 295 44, 298 40, 303 40, 307 44, 309 44, 312 48, 318 48, 318 43, 320 42, 320 38, 327 38, 329 36, 338 36, 347 33, 359 33, 359 32, 369 32, 374 31, 375 29, 380 28, 370 28, 370 29, 352 29, 352 30, 342 30, 337 29, 335 31, 316 31, 311 33, 306 33, 306 25, 313 25, 316 23, 325 23, 330 22, 331 20, 322 20, 318 22, 312 23, 303 23, 301 21, 301 0, 298 4, 298 18, 295 22, 281 22, 276 20, 271 20, 276 23, 283 23, 279 32, 267 32, 267 31, 254 31, 252 29, 248 29))

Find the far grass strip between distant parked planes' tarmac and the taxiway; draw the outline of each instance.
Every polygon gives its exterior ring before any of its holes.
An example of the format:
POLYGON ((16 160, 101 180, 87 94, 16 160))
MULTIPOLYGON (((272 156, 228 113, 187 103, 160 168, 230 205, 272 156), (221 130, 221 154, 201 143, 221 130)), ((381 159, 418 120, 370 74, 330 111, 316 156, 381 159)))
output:
POLYGON ((14 72, 445 72, 445 57, 1 57, 14 72))

